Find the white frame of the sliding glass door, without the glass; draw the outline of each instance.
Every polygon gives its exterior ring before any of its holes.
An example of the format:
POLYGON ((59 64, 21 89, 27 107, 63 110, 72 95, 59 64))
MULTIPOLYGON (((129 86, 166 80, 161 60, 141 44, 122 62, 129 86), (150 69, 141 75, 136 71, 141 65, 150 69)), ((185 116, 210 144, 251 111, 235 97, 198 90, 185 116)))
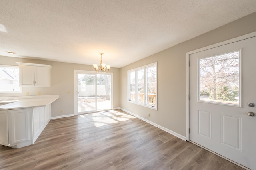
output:
MULTIPOLYGON (((80 113, 78 114, 78 101, 77 101, 77 74, 93 74, 96 75, 96 79, 97 79, 97 74, 101 74, 101 73, 96 73, 95 71, 86 71, 86 70, 74 70, 74 115, 80 115, 80 114, 87 114, 87 113, 93 113, 95 111, 91 111, 91 112, 86 112, 86 113, 80 113)), ((111 75, 111 109, 113 109, 113 73, 104 73, 104 74, 108 74, 111 75)), ((97 86, 97 84, 96 84, 97 86)), ((97 88, 96 88, 96 92, 97 93, 97 88)), ((96 112, 97 112, 97 103, 96 103, 96 112)), ((104 110, 103 110, 104 111, 104 110)))

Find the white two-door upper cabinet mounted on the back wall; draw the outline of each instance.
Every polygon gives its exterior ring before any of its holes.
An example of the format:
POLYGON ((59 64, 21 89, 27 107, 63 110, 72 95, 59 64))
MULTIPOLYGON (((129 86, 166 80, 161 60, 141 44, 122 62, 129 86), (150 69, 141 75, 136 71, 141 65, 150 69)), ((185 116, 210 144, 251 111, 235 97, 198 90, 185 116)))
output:
POLYGON ((51 68, 50 65, 18 63, 20 65, 20 87, 50 87, 51 68))

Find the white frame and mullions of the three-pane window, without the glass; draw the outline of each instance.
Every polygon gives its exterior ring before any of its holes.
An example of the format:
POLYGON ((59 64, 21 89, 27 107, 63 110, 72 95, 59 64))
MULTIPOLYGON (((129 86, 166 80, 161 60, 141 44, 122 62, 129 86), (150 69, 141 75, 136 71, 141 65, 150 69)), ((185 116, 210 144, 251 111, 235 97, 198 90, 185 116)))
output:
POLYGON ((130 102, 130 103, 134 103, 134 104, 137 104, 137 105, 141 105, 141 106, 144 106, 144 107, 147 107, 147 108, 150 108, 150 109, 154 109, 154 110, 157 110, 157 62, 155 63, 151 63, 151 64, 148 64, 148 65, 144 65, 144 66, 141 66, 141 67, 137 67, 135 69, 130 69, 127 71, 127 80, 128 80, 128 90, 127 90, 127 101, 130 102), (147 69, 150 68, 150 67, 156 67, 156 104, 155 105, 149 105, 147 102, 147 96, 148 96, 148 73, 147 73, 147 69), (138 101, 138 71, 140 70, 144 70, 144 103, 138 101), (135 100, 131 100, 130 99, 130 89, 131 89, 131 77, 130 77, 130 73, 132 72, 135 72, 135 100))

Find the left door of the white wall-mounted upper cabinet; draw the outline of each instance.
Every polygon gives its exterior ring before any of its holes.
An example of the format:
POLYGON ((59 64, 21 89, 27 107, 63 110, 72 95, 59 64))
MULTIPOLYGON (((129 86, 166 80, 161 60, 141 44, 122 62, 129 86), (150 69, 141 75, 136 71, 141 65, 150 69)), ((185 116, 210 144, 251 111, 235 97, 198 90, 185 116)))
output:
POLYGON ((34 86, 34 66, 20 65, 20 87, 34 86))

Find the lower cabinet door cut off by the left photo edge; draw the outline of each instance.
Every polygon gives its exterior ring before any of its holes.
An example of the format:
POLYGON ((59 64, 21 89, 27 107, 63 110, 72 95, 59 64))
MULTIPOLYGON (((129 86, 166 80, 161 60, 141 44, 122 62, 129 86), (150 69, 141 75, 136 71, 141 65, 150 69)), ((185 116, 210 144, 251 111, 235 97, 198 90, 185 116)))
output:
POLYGON ((7 111, 0 111, 0 144, 8 145, 8 113, 7 111))

